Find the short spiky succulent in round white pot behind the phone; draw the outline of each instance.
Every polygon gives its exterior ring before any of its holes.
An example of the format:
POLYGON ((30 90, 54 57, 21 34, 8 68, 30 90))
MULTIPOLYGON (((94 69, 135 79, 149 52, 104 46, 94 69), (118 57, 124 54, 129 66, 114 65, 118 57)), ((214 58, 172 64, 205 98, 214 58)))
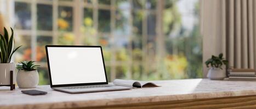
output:
POLYGON ((34 63, 35 61, 23 61, 16 65, 16 69, 19 70, 16 81, 20 88, 34 88, 37 86, 39 81, 37 69, 39 65, 35 65, 34 63))

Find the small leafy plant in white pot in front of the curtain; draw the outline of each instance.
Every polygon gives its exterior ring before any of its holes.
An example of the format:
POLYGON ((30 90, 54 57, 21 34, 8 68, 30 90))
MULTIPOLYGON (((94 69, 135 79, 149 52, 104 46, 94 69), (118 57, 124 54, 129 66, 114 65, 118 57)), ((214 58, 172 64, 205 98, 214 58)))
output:
POLYGON ((222 66, 227 66, 228 61, 223 58, 223 53, 220 53, 219 56, 212 56, 205 64, 207 68, 210 68, 207 77, 211 80, 223 80, 226 77, 226 70, 222 66))

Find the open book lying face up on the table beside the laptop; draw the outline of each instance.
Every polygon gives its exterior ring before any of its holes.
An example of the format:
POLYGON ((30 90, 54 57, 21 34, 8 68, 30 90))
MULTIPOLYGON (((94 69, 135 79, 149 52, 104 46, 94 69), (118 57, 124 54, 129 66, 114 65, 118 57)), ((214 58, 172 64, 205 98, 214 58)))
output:
POLYGON ((115 79, 113 81, 113 84, 115 84, 116 86, 137 87, 137 88, 159 87, 155 83, 152 83, 152 82, 135 81, 135 80, 120 80, 120 79, 115 79))

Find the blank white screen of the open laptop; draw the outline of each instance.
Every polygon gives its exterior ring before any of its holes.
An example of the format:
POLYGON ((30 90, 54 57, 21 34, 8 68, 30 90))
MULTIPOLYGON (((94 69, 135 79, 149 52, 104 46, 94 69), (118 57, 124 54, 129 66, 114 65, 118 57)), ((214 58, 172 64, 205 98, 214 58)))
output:
POLYGON ((100 47, 47 47, 52 85, 106 82, 100 47))

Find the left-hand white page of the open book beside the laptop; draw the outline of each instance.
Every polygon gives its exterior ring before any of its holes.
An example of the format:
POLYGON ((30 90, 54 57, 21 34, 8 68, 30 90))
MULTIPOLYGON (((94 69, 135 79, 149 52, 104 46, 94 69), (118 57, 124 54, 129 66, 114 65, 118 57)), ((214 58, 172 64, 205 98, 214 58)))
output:
POLYGON ((135 80, 121 80, 121 79, 115 79, 113 81, 113 84, 116 86, 126 86, 126 87, 141 87, 140 82, 135 80))

